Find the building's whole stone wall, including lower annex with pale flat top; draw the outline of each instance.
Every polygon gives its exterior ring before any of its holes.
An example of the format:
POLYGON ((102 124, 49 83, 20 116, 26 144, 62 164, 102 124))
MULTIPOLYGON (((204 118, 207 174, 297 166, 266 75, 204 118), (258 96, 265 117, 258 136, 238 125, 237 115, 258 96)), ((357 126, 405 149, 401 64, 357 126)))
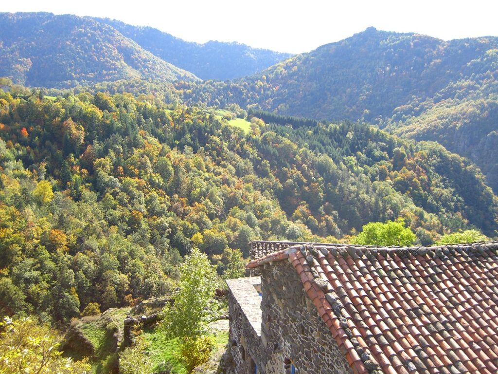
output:
POLYGON ((229 349, 237 374, 352 374, 346 358, 306 296, 290 263, 260 268, 254 278, 229 285, 229 349), (257 301, 257 304, 256 304, 257 301))

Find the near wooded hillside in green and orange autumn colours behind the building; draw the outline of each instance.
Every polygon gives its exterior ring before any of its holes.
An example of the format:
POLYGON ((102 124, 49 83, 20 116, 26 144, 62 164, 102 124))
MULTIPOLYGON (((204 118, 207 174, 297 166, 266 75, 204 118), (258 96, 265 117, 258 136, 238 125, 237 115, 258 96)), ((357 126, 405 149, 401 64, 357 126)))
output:
POLYGON ((337 241, 396 217, 423 244, 496 235, 482 175, 433 143, 347 121, 254 118, 245 133, 144 95, 40 96, 0 93, 1 314, 64 324, 90 302, 164 294, 192 246, 223 274, 254 238, 337 241))

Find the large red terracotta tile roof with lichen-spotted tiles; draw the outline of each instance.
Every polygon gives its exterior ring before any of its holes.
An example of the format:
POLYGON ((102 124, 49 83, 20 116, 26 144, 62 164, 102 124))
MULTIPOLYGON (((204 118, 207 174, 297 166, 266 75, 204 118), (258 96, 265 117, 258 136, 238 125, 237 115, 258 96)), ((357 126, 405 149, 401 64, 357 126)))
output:
POLYGON ((288 259, 355 373, 498 373, 498 242, 295 245, 288 259))

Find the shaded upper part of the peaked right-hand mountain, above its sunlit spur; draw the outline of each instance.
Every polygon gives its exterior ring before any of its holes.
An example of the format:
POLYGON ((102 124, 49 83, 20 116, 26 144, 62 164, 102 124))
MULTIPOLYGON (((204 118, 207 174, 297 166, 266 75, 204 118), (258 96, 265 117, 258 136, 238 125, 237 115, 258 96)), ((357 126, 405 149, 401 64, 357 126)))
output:
MULTIPOLYGON (((230 92, 234 96, 230 100, 241 106, 257 104, 286 115, 376 123, 415 98, 423 102, 438 97, 452 83, 494 71, 496 57, 487 52, 497 46, 498 37, 445 42, 370 27, 253 76, 214 82, 218 96, 210 104, 223 104, 230 92), (479 59, 486 61, 476 63, 479 59)), ((203 88, 197 88, 200 97, 203 88)))

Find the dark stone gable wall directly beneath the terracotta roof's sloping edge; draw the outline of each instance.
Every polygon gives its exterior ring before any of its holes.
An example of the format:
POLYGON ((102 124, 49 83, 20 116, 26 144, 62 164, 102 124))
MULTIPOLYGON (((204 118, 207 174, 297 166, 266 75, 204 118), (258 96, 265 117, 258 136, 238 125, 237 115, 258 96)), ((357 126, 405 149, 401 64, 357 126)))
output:
POLYGON ((287 261, 261 269, 261 291, 261 373, 290 374, 291 363, 300 374, 352 373, 287 261))

